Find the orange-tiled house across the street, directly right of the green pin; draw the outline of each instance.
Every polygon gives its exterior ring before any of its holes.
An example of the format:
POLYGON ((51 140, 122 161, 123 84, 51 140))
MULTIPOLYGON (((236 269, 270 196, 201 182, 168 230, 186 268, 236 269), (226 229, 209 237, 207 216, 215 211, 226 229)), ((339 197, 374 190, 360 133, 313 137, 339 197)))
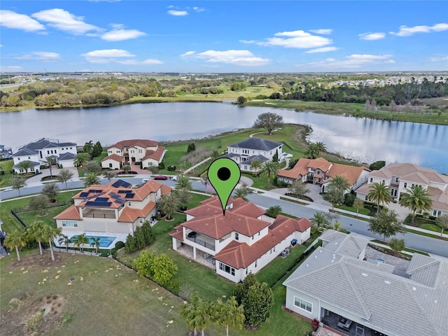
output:
POLYGON ((312 181, 320 184, 322 193, 328 190, 328 183, 334 176, 344 176, 350 183, 350 188, 346 190, 356 190, 365 183, 366 176, 370 169, 366 167, 355 167, 350 165, 341 165, 332 163, 324 158, 306 159, 300 158, 292 169, 279 169, 278 181, 293 183, 293 181, 312 181))

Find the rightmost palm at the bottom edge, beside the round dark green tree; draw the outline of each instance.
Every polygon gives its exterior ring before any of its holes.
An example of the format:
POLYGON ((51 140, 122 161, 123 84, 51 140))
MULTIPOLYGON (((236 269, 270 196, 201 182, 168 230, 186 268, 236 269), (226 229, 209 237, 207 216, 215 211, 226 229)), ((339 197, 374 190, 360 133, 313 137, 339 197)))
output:
POLYGON ((225 335, 229 336, 229 328, 237 327, 241 329, 244 323, 244 307, 238 305, 235 296, 230 297, 227 302, 218 299, 213 306, 213 315, 216 323, 225 326, 225 335))

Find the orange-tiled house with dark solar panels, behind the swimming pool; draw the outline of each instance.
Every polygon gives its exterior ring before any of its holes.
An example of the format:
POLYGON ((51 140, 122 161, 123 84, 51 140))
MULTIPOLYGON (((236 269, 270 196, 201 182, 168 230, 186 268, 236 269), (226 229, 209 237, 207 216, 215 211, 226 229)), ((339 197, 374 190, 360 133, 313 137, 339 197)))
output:
POLYGON ((74 204, 53 219, 62 234, 102 232, 104 236, 133 235, 134 229, 156 214, 155 203, 172 188, 157 181, 147 181, 132 188, 123 180, 94 185, 73 197, 74 204))

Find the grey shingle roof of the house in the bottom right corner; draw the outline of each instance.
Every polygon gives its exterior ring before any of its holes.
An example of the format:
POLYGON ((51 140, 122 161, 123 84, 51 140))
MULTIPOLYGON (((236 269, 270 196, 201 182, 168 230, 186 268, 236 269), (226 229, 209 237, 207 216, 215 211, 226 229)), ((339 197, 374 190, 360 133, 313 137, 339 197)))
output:
POLYGON ((426 276, 432 277, 433 286, 323 247, 283 285, 355 314, 365 319, 367 327, 381 328, 391 336, 448 335, 448 263, 432 258, 428 263, 428 257, 423 260, 420 255, 413 258, 409 269, 426 272, 423 269, 429 267, 426 276))

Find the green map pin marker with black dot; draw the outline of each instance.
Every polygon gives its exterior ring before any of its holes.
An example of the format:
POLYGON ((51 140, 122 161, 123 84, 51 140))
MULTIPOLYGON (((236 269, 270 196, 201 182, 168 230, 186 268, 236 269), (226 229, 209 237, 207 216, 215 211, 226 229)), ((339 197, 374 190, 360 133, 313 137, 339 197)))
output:
POLYGON ((228 158, 217 159, 211 162, 207 175, 209 176, 211 186, 218 193, 219 200, 221 200, 221 205, 223 206, 223 215, 225 215, 225 206, 230 194, 241 177, 241 171, 237 162, 228 158))

